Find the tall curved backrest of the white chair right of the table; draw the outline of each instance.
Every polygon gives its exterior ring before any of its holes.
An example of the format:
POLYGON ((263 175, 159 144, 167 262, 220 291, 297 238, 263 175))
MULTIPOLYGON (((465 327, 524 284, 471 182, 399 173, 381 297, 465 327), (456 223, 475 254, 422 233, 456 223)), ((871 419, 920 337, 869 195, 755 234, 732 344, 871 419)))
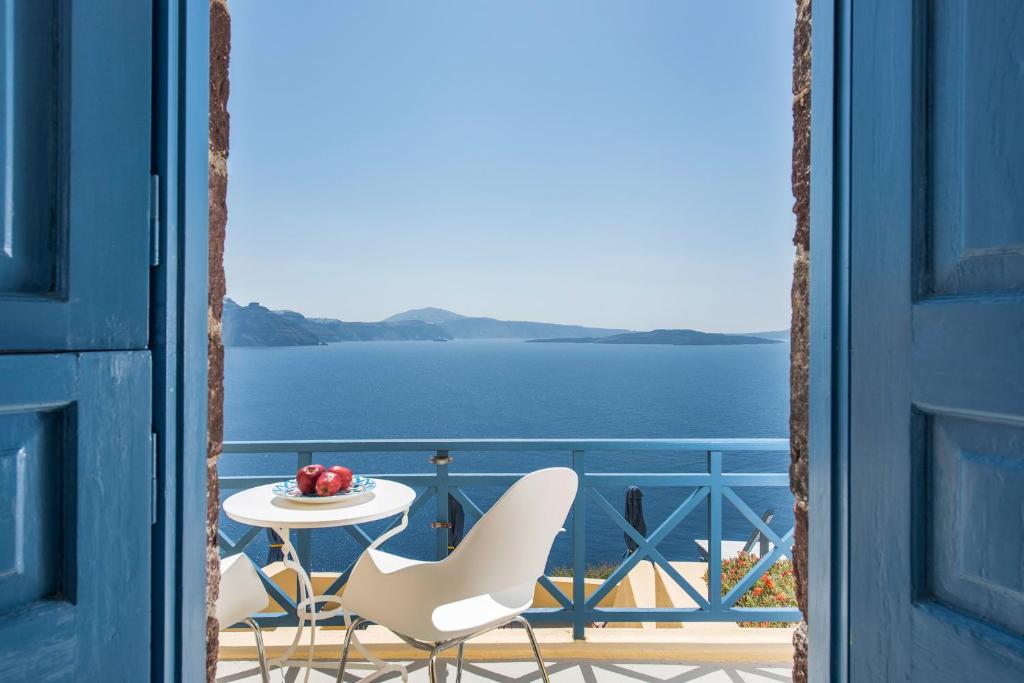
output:
POLYGON ((472 594, 519 591, 532 596, 579 480, 566 467, 519 479, 473 526, 445 564, 472 594))

